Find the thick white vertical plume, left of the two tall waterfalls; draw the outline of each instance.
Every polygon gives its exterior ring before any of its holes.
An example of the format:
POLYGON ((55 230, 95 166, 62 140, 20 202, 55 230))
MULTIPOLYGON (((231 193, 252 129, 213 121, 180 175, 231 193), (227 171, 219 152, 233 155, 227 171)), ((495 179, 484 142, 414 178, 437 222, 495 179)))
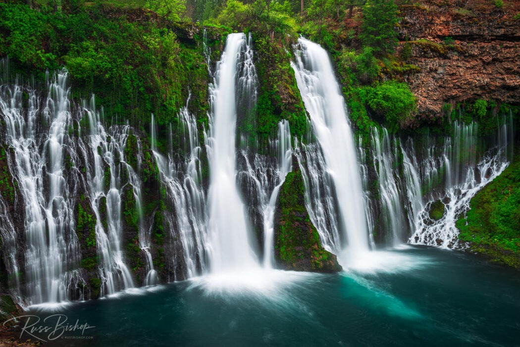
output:
MULTIPOLYGON (((211 238, 212 272, 257 268, 258 261, 251 247, 250 228, 236 183, 236 117, 237 83, 249 84, 241 75, 251 47, 244 34, 230 34, 221 60, 217 63, 214 87, 210 87, 212 115, 211 138, 206 139, 210 159, 208 206, 211 238)), ((246 71, 248 69, 245 69, 246 71)))

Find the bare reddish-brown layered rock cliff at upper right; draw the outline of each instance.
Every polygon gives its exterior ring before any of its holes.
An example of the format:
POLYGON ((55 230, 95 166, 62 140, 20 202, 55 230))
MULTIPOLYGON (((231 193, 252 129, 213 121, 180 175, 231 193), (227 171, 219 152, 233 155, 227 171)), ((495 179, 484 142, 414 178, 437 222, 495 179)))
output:
POLYGON ((398 52, 410 45, 406 59, 421 69, 405 77, 420 117, 440 117, 444 103, 520 103, 520 20, 514 10, 458 8, 448 1, 400 11, 398 52))

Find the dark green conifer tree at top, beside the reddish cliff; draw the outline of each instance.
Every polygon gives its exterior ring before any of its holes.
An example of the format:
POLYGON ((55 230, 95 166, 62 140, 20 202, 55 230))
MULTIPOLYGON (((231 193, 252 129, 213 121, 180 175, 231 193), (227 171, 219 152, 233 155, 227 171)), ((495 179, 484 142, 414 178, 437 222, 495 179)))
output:
POLYGON ((368 0, 363 6, 363 23, 359 37, 375 54, 393 53, 397 45, 395 25, 397 5, 393 0, 368 0))

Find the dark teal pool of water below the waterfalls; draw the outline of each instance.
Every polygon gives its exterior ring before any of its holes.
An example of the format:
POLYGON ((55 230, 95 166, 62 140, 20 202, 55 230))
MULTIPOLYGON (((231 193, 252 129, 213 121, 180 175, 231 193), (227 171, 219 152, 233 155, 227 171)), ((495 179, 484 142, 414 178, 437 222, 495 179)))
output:
POLYGON ((520 272, 423 247, 376 262, 382 270, 276 271, 240 278, 257 282, 245 288, 200 278, 31 313, 95 326, 51 346, 520 345, 520 272))

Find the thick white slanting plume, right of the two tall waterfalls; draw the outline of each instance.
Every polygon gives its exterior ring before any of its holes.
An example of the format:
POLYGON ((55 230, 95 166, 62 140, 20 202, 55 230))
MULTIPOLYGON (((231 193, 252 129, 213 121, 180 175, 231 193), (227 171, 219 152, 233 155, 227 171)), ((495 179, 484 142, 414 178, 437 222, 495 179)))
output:
MULTIPOLYGON (((301 51, 296 54, 293 64, 298 89, 319 141, 324 167, 333 183, 333 196, 339 207, 338 229, 340 235, 346 233, 346 255, 354 258, 356 253, 369 250, 369 237, 359 164, 346 105, 327 51, 304 38, 298 39, 298 43, 301 51)), ((313 222, 319 228, 317 221, 313 222)), ((334 240, 330 246, 339 254, 343 243, 334 240)))

